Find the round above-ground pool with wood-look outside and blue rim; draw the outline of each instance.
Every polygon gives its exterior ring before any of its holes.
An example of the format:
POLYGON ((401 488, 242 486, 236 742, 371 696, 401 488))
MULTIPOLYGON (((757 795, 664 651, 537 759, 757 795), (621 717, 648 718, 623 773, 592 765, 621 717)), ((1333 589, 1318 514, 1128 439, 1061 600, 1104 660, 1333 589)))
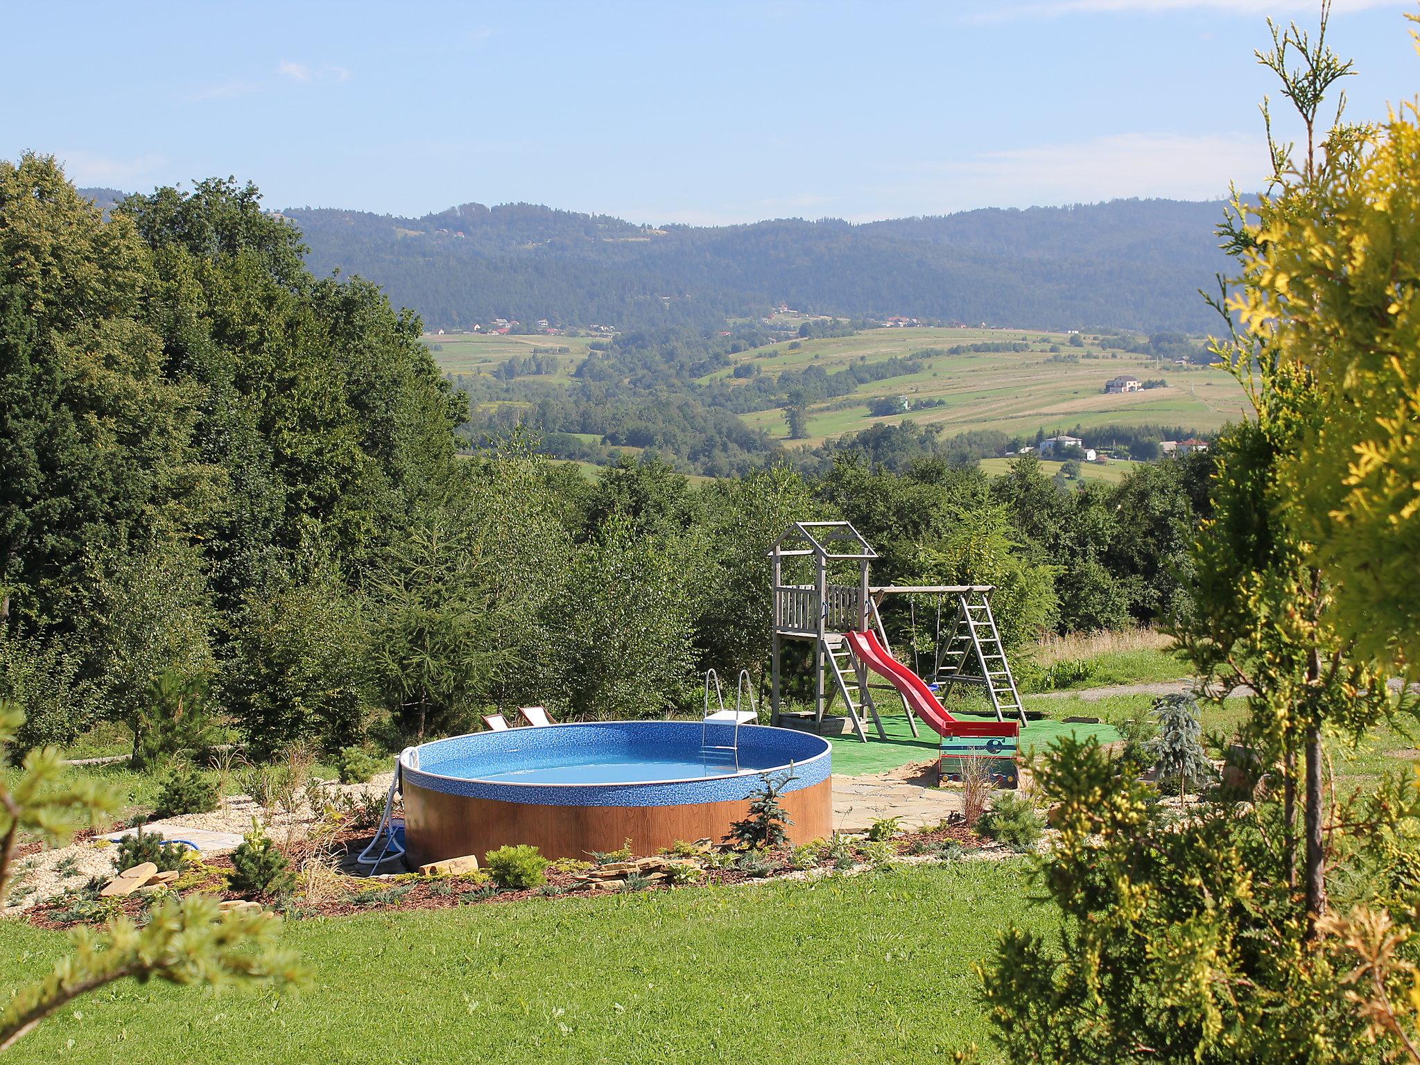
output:
POLYGON ((828 741, 767 726, 599 721, 435 740, 399 760, 410 865, 532 843, 586 858, 632 841, 638 855, 677 839, 719 842, 765 778, 792 842, 832 831, 828 741))

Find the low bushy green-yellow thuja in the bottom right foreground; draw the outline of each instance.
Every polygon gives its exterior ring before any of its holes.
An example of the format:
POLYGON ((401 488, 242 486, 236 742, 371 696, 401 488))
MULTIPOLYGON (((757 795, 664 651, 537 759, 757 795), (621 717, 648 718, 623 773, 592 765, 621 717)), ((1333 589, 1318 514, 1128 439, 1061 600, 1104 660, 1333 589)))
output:
MULTIPOLYGON (((1278 805, 1203 804, 1180 818, 1135 770, 1072 738, 1037 767, 1058 831, 1038 876, 1059 930, 1012 929, 983 967, 1007 1059, 1375 1061, 1370 1022, 1348 998, 1353 960, 1312 943, 1288 886, 1278 805)), ((1403 862, 1383 838, 1396 842, 1404 818, 1389 809, 1390 831, 1377 824, 1356 846, 1393 872, 1403 862)))

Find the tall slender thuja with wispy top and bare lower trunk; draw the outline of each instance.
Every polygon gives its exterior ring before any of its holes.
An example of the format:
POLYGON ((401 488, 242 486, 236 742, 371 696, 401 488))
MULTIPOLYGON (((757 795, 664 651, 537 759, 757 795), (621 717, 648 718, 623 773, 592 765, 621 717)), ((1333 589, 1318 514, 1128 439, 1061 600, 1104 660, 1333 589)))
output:
MULTIPOLYGON (((1370 131, 1342 122, 1340 106, 1321 129, 1328 92, 1352 74, 1326 45, 1326 16, 1315 38, 1292 24, 1272 28, 1272 48, 1258 60, 1279 78, 1305 131, 1301 146, 1278 142, 1264 105, 1272 155, 1272 187, 1257 203, 1234 196, 1221 227, 1240 266, 1231 297, 1220 295, 1227 339, 1214 352, 1242 383, 1254 417, 1220 440, 1213 517, 1196 551, 1197 609, 1180 630, 1189 657, 1218 687, 1247 687, 1250 738, 1281 758, 1284 870, 1295 865, 1298 784, 1304 819, 1302 883, 1309 923, 1326 909, 1322 733, 1359 736, 1390 710, 1373 656, 1336 625, 1338 584, 1323 572, 1311 530, 1294 518, 1287 470, 1308 440, 1325 437, 1333 405, 1319 402, 1318 376, 1285 346, 1292 305, 1278 301, 1285 278, 1272 263, 1278 233, 1305 231, 1311 254, 1328 257, 1326 226, 1335 213, 1325 187, 1358 173, 1370 131)), ((1223 285, 1227 291, 1228 285, 1223 285)))

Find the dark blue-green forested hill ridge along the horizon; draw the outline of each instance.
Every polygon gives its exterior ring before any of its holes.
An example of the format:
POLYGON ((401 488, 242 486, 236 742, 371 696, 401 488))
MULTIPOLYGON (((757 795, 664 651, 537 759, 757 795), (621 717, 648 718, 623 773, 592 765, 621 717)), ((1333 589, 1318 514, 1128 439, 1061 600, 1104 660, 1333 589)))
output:
POLYGON ((362 274, 430 328, 548 318, 710 325, 774 304, 1024 328, 1214 328, 1221 203, 1115 200, 868 224, 652 229, 531 204, 422 219, 284 212, 321 275, 362 274))

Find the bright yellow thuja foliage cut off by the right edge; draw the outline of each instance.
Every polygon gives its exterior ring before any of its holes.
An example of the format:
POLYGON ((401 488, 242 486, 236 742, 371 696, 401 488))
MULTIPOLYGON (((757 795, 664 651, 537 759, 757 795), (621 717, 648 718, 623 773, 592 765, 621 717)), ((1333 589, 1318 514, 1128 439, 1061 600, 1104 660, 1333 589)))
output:
POLYGON ((1244 267, 1235 307, 1248 342, 1305 373, 1309 408, 1325 412, 1298 426, 1278 473, 1288 525, 1314 544, 1333 589, 1335 622, 1362 653, 1414 673, 1420 112, 1403 104, 1314 149, 1308 75, 1325 74, 1325 60, 1287 78, 1301 89, 1288 95, 1306 119, 1305 155, 1278 151, 1275 195, 1234 233, 1244 267))

